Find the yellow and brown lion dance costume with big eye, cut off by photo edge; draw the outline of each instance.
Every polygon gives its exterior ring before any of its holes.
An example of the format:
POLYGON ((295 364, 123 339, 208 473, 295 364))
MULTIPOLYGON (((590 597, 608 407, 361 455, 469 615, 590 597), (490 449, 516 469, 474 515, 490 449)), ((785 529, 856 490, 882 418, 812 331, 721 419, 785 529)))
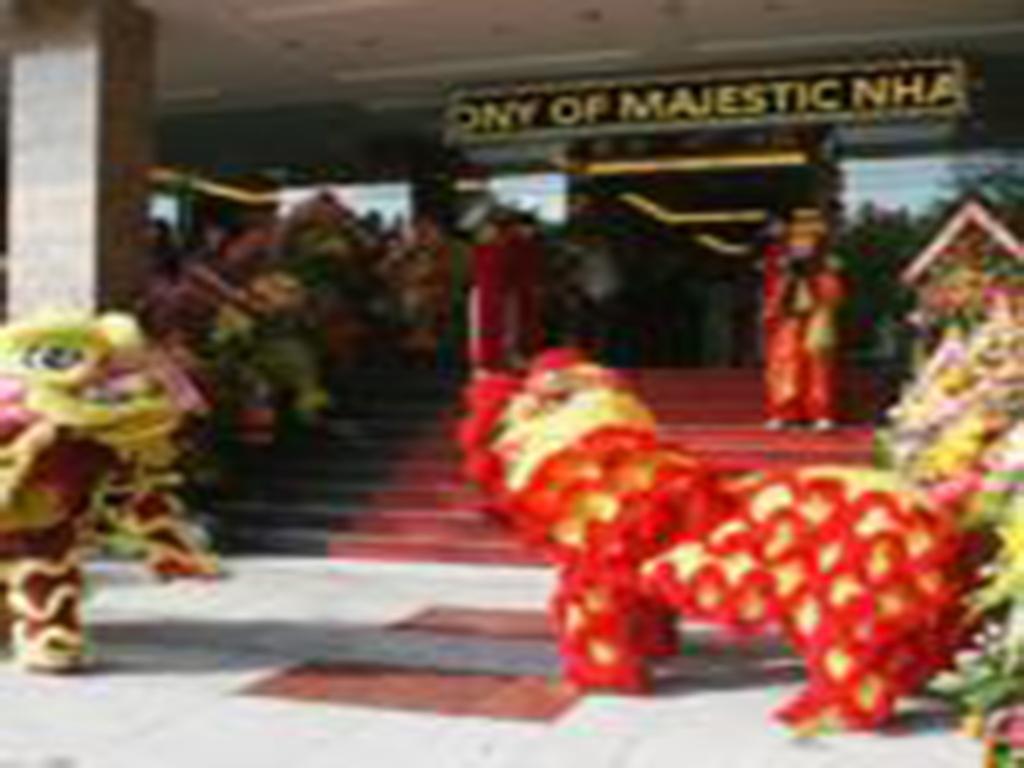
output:
POLYGON ((87 660, 82 560, 100 529, 137 538, 161 575, 216 572, 171 493, 183 417, 131 317, 0 328, 0 585, 18 666, 87 660))

